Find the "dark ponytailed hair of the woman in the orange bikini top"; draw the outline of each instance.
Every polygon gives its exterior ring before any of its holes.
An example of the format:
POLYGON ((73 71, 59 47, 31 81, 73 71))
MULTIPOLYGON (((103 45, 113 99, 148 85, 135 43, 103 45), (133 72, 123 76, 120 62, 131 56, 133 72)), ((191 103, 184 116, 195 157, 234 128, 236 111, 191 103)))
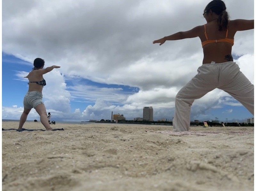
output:
POLYGON ((217 19, 219 30, 225 30, 228 27, 229 15, 226 11, 226 5, 221 0, 213 0, 208 5, 206 5, 204 12, 212 10, 219 18, 217 19))

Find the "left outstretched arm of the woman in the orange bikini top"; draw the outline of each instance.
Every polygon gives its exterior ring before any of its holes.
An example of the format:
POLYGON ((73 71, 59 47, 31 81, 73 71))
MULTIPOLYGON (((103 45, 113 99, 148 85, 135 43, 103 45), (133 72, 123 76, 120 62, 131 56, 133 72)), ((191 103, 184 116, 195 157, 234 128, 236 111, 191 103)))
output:
POLYGON ((153 41, 153 44, 160 43, 159 45, 162 45, 164 44, 165 41, 174 41, 174 40, 180 40, 185 38, 195 38, 199 35, 200 30, 201 30, 201 26, 197 26, 195 28, 192 28, 191 30, 188 30, 185 32, 178 32, 170 36, 165 36, 164 38, 155 40, 153 41))

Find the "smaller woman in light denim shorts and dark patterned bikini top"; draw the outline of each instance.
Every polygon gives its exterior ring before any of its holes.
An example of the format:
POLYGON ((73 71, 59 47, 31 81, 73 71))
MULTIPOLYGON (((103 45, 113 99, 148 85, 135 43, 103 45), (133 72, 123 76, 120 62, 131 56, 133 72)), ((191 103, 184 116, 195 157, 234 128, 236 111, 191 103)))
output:
POLYGON ((43 78, 43 74, 48 73, 53 70, 53 68, 60 68, 60 66, 51 66, 43 69, 44 60, 41 58, 36 58, 34 60, 34 68, 33 70, 24 78, 28 78, 29 88, 28 93, 24 97, 23 105, 24 111, 20 117, 20 125, 19 130, 22 129, 25 121, 27 120, 28 113, 32 108, 35 108, 36 112, 40 115, 40 121, 46 128, 46 130, 52 130, 50 124, 48 123, 47 113, 44 106, 44 102, 42 100, 42 90, 46 85, 46 82, 43 78))

